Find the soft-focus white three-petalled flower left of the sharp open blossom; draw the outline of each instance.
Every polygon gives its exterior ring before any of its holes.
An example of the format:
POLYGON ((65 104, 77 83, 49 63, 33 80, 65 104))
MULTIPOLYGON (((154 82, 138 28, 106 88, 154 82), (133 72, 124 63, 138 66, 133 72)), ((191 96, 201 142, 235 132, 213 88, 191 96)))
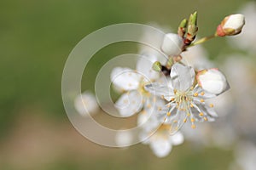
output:
POLYGON ((141 111, 150 94, 144 90, 144 84, 160 77, 160 73, 152 70, 156 56, 143 56, 137 61, 137 70, 116 67, 111 73, 113 85, 122 89, 122 94, 115 107, 121 116, 132 116, 141 111))

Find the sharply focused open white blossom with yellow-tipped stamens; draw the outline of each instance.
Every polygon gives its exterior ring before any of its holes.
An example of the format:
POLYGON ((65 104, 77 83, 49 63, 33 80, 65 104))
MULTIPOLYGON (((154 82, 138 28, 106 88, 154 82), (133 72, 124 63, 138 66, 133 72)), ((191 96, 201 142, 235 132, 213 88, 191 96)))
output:
POLYGON ((162 96, 169 101, 160 109, 158 115, 164 117, 163 122, 171 125, 170 133, 176 133, 183 123, 187 122, 188 117, 192 128, 195 128, 195 122, 214 121, 217 114, 212 104, 206 105, 205 99, 211 99, 216 95, 207 93, 198 85, 194 87, 194 69, 177 63, 172 65, 170 77, 172 88, 156 82, 145 86, 151 94, 162 96))

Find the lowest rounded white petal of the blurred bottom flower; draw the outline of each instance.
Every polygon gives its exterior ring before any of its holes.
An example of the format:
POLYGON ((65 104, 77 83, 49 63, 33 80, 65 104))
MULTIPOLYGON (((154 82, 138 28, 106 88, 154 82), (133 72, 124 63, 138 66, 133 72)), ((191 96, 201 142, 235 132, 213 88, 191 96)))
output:
POLYGON ((172 144, 165 138, 154 138, 150 140, 150 148, 153 150, 155 156, 165 157, 172 150, 172 144))

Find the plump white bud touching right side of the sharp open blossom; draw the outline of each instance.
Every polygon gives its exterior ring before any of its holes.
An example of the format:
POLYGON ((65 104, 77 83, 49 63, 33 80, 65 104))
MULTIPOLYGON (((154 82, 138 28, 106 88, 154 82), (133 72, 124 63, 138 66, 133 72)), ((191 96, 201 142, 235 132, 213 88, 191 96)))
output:
POLYGON ((215 68, 199 71, 196 80, 201 88, 211 94, 222 94, 230 88, 222 72, 215 68))

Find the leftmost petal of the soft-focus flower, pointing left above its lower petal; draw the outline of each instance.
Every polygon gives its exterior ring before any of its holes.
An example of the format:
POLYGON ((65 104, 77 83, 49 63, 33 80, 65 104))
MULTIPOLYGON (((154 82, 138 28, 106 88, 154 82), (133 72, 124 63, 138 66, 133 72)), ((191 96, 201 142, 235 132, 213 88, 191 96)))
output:
POLYGON ((137 89, 142 75, 138 74, 137 71, 132 71, 129 68, 116 67, 111 72, 111 82, 117 88, 123 90, 137 89))

